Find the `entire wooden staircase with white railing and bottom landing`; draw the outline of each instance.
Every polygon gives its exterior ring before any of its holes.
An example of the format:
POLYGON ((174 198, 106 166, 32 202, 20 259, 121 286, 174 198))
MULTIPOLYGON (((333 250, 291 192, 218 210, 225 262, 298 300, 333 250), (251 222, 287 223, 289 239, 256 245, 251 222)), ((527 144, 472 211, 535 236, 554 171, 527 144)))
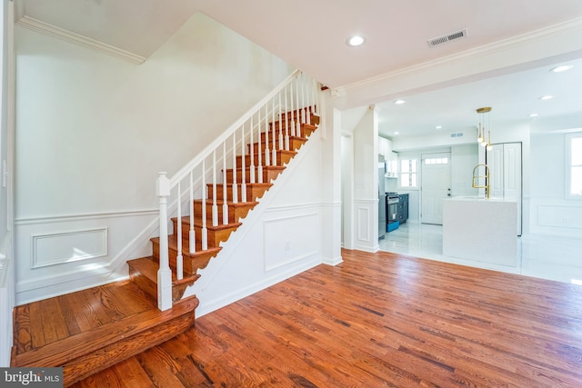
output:
POLYGON ((69 386, 194 324, 198 299, 184 293, 200 277, 197 270, 219 254, 221 243, 243 224, 319 124, 315 99, 305 104, 302 77, 300 72, 289 77, 220 136, 218 145, 211 144, 172 179, 158 180, 160 237, 151 239, 151 256, 127 262, 129 280, 17 306, 11 366, 62 366, 69 386), (186 201, 184 179, 189 180, 186 201), (189 211, 182 211, 183 203, 189 211))

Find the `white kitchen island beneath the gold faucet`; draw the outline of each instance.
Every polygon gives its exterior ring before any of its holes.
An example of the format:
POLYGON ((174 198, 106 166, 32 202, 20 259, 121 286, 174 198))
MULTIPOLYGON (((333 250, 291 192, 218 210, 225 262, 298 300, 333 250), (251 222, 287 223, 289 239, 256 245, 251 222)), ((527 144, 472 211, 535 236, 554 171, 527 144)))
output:
POLYGON ((477 196, 446 199, 443 254, 517 266, 517 202, 477 196))

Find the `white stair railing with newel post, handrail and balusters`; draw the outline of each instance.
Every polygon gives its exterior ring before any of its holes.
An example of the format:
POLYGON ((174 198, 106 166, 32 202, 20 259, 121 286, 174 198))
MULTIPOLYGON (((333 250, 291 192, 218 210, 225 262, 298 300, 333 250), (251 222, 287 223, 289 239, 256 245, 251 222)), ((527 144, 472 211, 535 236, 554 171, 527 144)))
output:
POLYGON ((160 310, 172 307, 172 279, 184 277, 183 258, 196 253, 196 238, 200 250, 206 251, 209 249, 208 229, 232 220, 227 203, 256 201, 256 198, 248 198, 247 192, 252 190, 248 185, 266 183, 263 172, 267 166, 276 165, 277 153, 289 151, 290 139, 301 134, 301 125, 310 123, 311 114, 318 115, 318 96, 317 82, 296 70, 176 174, 170 178, 166 173, 158 174, 160 268, 157 300, 160 310), (230 184, 227 184, 227 165, 232 168, 230 184), (187 190, 183 190, 184 187, 187 190), (196 201, 195 197, 201 199, 196 201), (171 212, 168 212, 168 202, 172 204, 171 212), (168 234, 168 214, 177 216, 177 230, 172 240, 168 234), (198 224, 195 214, 201 214, 198 224), (185 228, 189 223, 189 232, 185 234, 182 233, 183 222, 185 228), (174 274, 171 268, 175 268, 174 274))

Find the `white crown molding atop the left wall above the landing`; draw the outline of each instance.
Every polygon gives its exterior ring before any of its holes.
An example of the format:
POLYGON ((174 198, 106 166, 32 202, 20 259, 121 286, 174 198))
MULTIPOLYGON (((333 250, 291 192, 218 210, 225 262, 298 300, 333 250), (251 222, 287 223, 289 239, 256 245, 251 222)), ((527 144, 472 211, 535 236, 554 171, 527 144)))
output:
POLYGON ((100 53, 105 53, 107 55, 112 55, 125 61, 129 61, 134 65, 141 65, 146 61, 146 58, 140 55, 135 55, 128 51, 117 48, 113 45, 106 45, 105 43, 96 41, 95 39, 88 38, 83 35, 75 34, 71 31, 67 31, 63 28, 59 28, 55 25, 49 25, 45 22, 35 19, 30 16, 23 16, 16 22, 16 25, 21 25, 30 30, 36 31, 41 34, 54 36, 58 39, 62 39, 65 42, 72 43, 74 45, 80 45, 82 47, 98 51, 100 53))

